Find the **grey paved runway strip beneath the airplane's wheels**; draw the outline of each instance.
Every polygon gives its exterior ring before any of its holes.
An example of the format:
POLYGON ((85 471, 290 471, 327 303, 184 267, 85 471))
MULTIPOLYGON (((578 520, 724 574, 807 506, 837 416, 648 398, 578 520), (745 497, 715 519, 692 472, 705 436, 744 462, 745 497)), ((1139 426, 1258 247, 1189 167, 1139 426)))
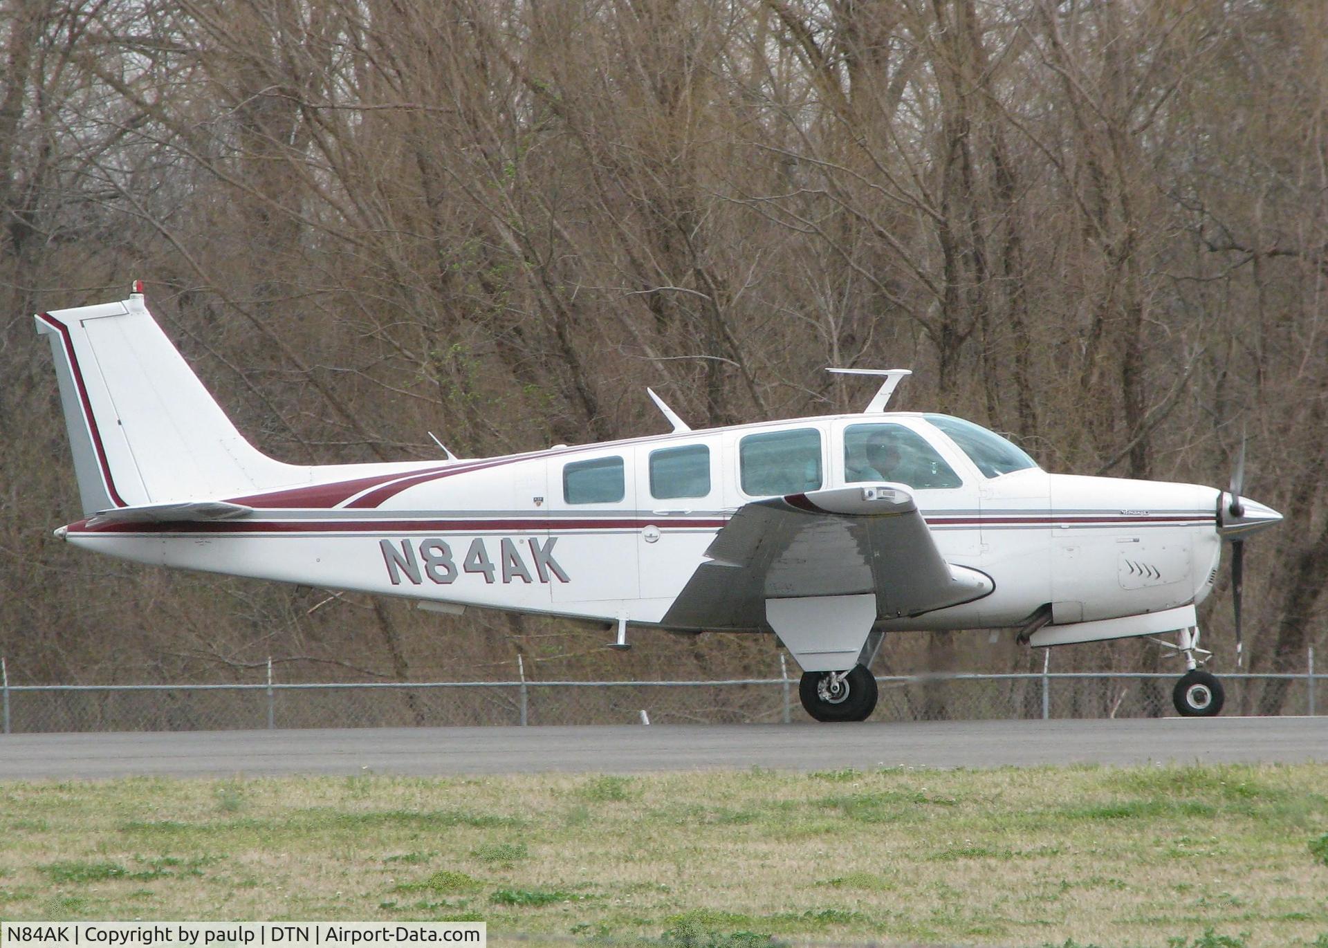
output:
POLYGON ((1328 761, 1328 717, 0 736, 0 779, 1328 761))

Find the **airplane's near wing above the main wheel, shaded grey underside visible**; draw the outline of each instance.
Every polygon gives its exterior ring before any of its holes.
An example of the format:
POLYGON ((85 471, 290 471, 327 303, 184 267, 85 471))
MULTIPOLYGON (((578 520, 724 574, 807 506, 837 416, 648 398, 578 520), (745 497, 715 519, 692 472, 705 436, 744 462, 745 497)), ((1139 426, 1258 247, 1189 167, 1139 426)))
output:
POLYGON ((947 563, 903 485, 854 485, 738 509, 664 615, 667 628, 761 628, 766 600, 876 597, 876 617, 981 599, 992 582, 947 563))

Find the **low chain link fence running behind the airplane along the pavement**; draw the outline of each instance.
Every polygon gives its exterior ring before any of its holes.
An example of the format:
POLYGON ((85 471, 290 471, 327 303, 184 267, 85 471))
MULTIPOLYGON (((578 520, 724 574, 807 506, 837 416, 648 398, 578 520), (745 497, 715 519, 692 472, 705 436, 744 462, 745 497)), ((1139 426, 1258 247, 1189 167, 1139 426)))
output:
MULTIPOLYGON (((236 730, 806 720, 798 676, 724 681, 432 681, 373 684, 11 685, 3 730, 236 730)), ((1224 674, 1226 714, 1316 714, 1324 674, 1224 674), (1275 693, 1276 692, 1276 693, 1275 693)), ((874 721, 1158 717, 1178 673, 883 676, 874 721)))

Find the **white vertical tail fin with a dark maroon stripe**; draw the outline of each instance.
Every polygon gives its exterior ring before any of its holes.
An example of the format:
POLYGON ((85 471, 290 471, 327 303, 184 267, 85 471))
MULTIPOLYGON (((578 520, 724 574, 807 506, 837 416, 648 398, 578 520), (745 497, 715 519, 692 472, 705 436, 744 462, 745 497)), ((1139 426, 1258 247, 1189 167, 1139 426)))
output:
POLYGON ((37 315, 50 337, 85 514, 250 494, 309 469, 256 450, 133 293, 37 315))

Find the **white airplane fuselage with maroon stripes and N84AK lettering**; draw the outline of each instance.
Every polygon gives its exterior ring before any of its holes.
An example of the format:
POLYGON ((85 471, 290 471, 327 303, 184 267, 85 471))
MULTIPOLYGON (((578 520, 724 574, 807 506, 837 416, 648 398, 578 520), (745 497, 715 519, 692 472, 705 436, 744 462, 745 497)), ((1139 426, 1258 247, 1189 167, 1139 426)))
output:
POLYGON ((1093 621, 1201 601, 1211 590, 1219 491, 1037 467, 989 475, 981 458, 930 421, 936 418, 825 416, 502 458, 340 466, 331 481, 227 498, 252 509, 240 519, 89 518, 70 524, 65 539, 142 563, 444 609, 685 629, 667 613, 716 534, 742 505, 770 495, 749 491, 778 486, 756 482, 752 446, 801 439, 809 459, 794 477, 805 487, 851 487, 862 477, 846 438, 888 425, 911 432, 939 459, 914 471, 908 490, 942 556, 985 574, 992 591, 924 615, 878 615, 878 628, 1011 627, 1048 604, 1056 623, 1093 621))

